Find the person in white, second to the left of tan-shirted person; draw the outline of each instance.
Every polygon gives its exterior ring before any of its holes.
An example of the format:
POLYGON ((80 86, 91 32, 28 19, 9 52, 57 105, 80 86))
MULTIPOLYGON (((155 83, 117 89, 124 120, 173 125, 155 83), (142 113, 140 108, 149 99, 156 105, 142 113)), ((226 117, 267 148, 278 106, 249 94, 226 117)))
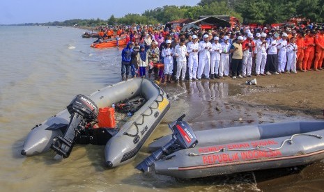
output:
POLYGON ((222 46, 218 40, 218 37, 214 38, 212 49, 210 49, 210 79, 218 77, 220 53, 222 51, 222 46))

